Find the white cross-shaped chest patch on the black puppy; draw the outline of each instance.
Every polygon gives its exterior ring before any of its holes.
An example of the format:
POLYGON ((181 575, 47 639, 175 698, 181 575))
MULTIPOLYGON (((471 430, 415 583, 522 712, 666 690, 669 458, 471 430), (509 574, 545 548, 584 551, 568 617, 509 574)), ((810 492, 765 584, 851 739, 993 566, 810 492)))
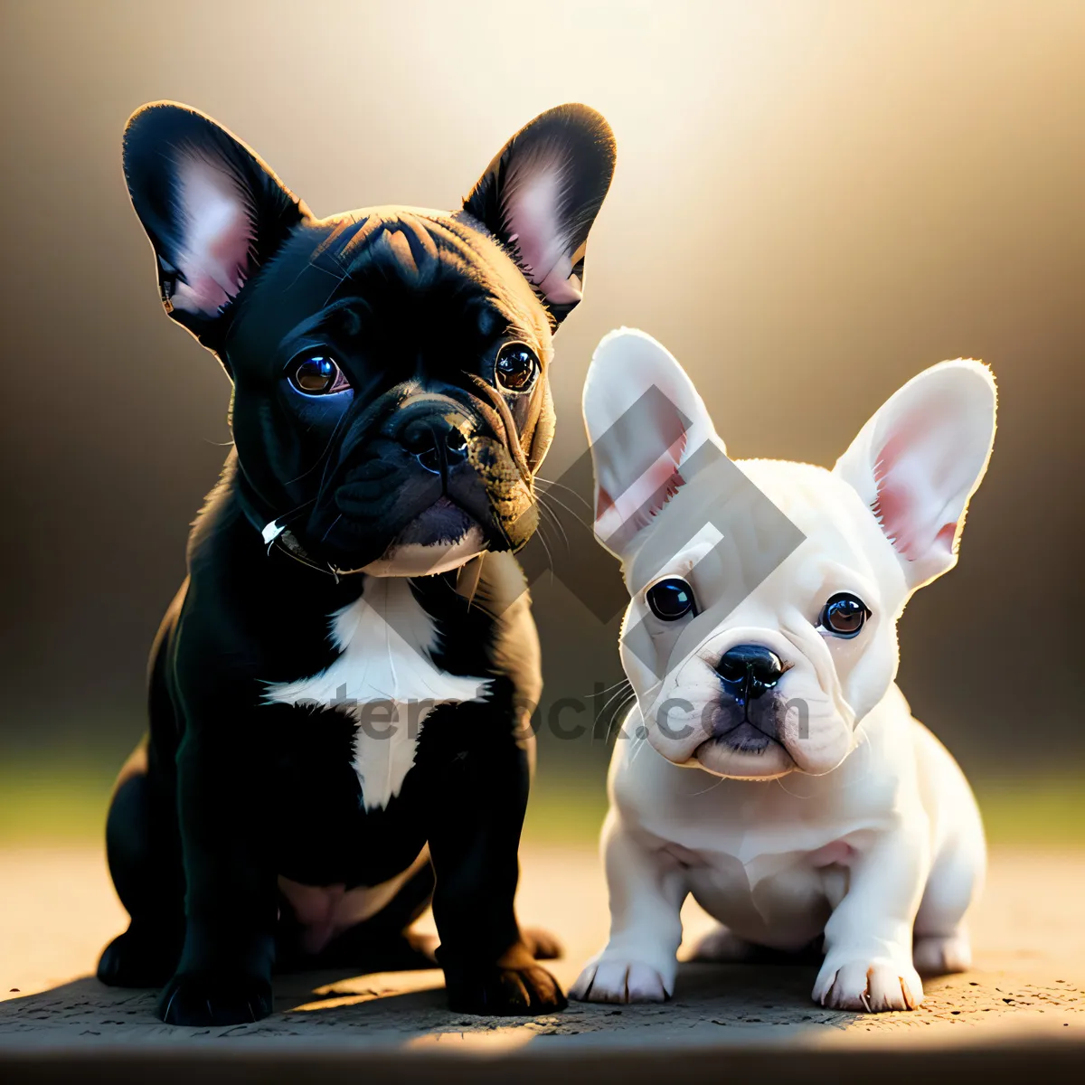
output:
POLYGON ((483 700, 489 680, 435 666, 433 623, 405 577, 366 576, 361 597, 330 621, 339 659, 310 678, 269 684, 264 700, 319 704, 353 716, 354 766, 366 809, 384 807, 414 764, 426 716, 438 704, 483 700))

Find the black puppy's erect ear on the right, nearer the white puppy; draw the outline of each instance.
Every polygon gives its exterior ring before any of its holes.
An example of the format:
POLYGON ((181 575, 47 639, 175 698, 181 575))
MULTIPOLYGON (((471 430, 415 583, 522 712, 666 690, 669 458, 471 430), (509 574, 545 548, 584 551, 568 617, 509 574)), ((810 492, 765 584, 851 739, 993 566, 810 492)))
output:
POLYGON ((613 175, 610 125, 587 105, 559 105, 521 128, 463 201, 512 252, 556 321, 580 301, 588 231, 613 175))

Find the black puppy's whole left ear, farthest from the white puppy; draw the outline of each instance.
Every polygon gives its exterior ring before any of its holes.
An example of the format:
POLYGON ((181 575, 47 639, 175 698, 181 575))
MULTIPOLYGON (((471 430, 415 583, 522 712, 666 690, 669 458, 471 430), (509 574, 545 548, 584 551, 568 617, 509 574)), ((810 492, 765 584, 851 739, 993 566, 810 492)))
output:
POLYGON ((175 102, 132 114, 124 167, 166 312, 216 349, 245 280, 308 208, 239 139, 175 102))

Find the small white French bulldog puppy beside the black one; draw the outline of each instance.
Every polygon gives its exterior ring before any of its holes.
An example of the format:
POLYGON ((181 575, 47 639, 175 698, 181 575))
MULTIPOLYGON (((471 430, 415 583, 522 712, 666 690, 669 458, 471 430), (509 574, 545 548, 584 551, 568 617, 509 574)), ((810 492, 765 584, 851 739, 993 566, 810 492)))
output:
POLYGON ((603 829, 610 941, 572 997, 669 997, 692 893, 722 924, 695 958, 824 939, 816 1001, 918 1006, 919 972, 970 965, 985 851, 961 770, 894 685, 896 623, 957 562, 991 372, 920 373, 832 471, 727 459, 681 367, 635 331, 600 344, 584 416, 637 700, 603 829))

